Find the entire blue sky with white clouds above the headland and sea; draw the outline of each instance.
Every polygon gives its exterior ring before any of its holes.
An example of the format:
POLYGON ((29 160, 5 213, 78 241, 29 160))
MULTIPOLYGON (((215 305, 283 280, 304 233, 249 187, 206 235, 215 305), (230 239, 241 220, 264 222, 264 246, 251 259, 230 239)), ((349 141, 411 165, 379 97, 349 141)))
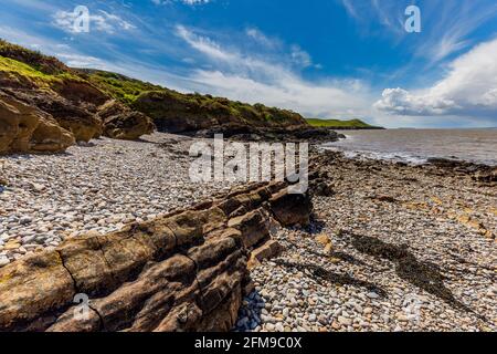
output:
POLYGON ((70 66, 306 117, 387 127, 497 126, 495 0, 1 4, 0 38, 70 66), (88 31, 77 27, 81 6, 88 10, 88 31), (420 10, 420 32, 405 30, 410 6, 420 10))

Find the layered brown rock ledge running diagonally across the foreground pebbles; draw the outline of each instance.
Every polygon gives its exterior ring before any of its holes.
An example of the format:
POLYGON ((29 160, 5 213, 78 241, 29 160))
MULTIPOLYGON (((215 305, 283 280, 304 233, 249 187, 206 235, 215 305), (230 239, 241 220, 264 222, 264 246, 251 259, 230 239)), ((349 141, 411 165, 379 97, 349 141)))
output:
POLYGON ((309 214, 308 197, 285 184, 255 185, 66 240, 0 269, 0 331, 229 331, 250 288, 251 253, 260 261, 278 251, 272 216, 302 225, 309 214))

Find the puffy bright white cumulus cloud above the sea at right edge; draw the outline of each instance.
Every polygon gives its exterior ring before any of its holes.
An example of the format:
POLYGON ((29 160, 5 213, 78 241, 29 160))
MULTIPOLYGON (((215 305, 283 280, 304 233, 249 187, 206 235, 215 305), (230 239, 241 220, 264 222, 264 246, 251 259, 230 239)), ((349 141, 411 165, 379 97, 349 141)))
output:
POLYGON ((482 43, 448 65, 432 87, 387 88, 374 107, 400 115, 497 115, 497 39, 482 43))

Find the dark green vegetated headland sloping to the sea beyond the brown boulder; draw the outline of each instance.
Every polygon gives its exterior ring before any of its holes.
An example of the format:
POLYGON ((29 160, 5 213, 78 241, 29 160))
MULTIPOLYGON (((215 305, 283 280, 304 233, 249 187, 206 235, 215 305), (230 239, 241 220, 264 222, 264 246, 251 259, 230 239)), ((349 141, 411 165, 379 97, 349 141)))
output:
POLYGON ((131 108, 154 118, 160 131, 187 132, 212 126, 307 126, 299 114, 223 97, 183 94, 120 74, 77 70, 85 80, 131 108))

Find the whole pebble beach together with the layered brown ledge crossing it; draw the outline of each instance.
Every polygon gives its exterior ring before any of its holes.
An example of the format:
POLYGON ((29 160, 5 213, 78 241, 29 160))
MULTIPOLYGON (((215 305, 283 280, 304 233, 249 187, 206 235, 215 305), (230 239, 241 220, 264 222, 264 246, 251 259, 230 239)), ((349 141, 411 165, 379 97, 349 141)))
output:
POLYGON ((497 330, 491 178, 316 149, 310 210, 284 186, 191 183, 194 140, 1 157, 0 330, 497 330), (78 292, 87 322, 71 317, 78 292))

